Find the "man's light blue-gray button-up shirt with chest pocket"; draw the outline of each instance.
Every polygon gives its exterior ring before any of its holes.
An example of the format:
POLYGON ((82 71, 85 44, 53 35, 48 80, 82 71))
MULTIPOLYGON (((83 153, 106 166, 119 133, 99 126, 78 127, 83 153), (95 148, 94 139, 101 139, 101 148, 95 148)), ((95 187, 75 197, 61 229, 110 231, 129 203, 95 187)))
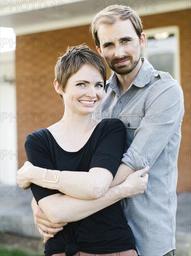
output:
MULTIPOLYGON (((142 66, 120 95, 114 73, 95 119, 119 118, 127 130, 122 162, 138 170, 147 165, 144 194, 121 201, 141 256, 163 256, 175 249, 177 160, 184 115, 183 92, 170 74, 142 66)), ((132 191, 133 194, 133 191, 132 191)))

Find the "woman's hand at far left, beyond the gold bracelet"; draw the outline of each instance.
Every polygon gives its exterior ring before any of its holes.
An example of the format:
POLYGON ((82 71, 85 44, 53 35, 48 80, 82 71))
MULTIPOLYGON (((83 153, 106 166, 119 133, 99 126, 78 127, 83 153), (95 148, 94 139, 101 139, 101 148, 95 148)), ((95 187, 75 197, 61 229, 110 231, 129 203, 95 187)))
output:
POLYGON ((33 166, 31 162, 25 162, 25 164, 17 171, 17 183, 22 189, 29 189, 31 182, 30 178, 30 167, 33 166))

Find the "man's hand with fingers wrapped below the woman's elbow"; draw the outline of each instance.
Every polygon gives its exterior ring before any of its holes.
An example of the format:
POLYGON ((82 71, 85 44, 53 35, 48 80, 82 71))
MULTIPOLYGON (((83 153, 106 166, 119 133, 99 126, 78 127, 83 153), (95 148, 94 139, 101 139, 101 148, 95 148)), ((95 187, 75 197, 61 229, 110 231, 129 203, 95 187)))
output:
POLYGON ((32 200, 32 211, 38 232, 41 236, 44 237, 44 243, 46 243, 51 237, 57 234, 57 232, 63 230, 63 227, 67 225, 67 223, 51 223, 40 209, 34 198, 32 200))

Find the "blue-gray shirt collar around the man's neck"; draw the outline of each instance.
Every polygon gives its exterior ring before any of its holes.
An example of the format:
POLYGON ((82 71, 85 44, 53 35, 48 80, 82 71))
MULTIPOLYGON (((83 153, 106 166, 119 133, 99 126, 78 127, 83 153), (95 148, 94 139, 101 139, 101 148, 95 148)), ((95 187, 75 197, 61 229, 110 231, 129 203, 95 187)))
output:
MULTIPOLYGON (((141 61, 143 62, 143 64, 140 67, 140 71, 137 74, 137 76, 134 78, 132 83, 130 84, 129 88, 131 88, 132 85, 135 85, 136 87, 139 87, 139 88, 143 88, 151 80, 151 76, 154 70, 153 66, 144 57, 141 57, 141 61)), ((155 75, 157 76, 158 74, 159 73, 155 75)), ((106 93, 107 93, 108 87, 112 88, 116 93, 119 91, 119 88, 117 86, 117 76, 115 73, 112 74, 108 79, 108 81, 106 82, 106 88, 105 88, 106 93)))

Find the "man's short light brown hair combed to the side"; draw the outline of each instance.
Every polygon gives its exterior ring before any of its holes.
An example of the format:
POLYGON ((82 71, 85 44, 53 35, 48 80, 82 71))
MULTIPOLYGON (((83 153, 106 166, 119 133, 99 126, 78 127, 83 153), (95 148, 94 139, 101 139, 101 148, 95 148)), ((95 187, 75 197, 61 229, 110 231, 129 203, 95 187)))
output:
POLYGON ((100 47, 100 41, 97 35, 97 30, 100 25, 114 24, 117 20, 131 20, 136 34, 140 38, 142 33, 142 22, 139 15, 130 7, 122 5, 108 6, 96 14, 91 23, 90 30, 96 46, 100 47))

